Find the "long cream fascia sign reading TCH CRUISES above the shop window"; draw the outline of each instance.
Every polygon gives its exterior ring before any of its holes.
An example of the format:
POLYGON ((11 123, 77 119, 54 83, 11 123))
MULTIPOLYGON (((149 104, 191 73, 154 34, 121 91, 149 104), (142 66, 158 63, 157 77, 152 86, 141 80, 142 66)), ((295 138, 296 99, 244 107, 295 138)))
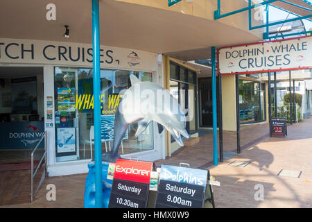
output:
MULTIPOLYGON (((101 68, 156 71, 157 54, 100 46, 101 68)), ((92 44, 0 38, 0 63, 92 67, 92 44)))

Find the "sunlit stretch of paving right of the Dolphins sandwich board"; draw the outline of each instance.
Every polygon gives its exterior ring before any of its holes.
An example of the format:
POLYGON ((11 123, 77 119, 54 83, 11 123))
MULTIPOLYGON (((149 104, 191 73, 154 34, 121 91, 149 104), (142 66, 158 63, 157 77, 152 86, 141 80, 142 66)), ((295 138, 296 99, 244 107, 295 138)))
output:
POLYGON ((268 137, 218 167, 209 167, 211 175, 220 181, 220 187, 214 187, 216 207, 311 208, 311 144, 312 118, 288 126, 287 138, 268 137), (251 163, 246 167, 229 166, 234 160, 251 163), (300 178, 277 176, 281 169, 302 174, 300 178), (261 186, 263 200, 255 200, 261 186))

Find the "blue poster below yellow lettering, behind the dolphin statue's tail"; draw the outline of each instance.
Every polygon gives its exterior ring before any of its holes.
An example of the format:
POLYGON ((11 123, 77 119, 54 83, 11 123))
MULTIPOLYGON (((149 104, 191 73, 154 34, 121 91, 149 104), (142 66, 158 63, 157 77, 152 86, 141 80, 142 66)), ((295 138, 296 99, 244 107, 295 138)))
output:
MULTIPOLYGON (((114 121, 115 115, 101 116, 101 139, 107 141, 114 139, 114 121)), ((125 131, 123 139, 128 139, 128 130, 125 131)))

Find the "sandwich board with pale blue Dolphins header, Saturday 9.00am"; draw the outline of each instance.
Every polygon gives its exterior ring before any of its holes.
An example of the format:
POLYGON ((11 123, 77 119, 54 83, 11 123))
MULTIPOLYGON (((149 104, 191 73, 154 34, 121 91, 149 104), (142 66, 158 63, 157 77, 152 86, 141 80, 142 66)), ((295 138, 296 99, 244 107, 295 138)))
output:
POLYGON ((162 165, 156 208, 200 208, 204 205, 207 171, 162 165))

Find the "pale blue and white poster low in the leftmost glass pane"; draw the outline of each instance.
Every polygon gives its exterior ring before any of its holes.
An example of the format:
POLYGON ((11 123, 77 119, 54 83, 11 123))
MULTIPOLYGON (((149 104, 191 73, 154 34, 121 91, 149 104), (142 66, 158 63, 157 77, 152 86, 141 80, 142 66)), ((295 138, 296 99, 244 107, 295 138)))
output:
POLYGON ((58 128, 58 153, 74 152, 76 149, 76 128, 58 128))

